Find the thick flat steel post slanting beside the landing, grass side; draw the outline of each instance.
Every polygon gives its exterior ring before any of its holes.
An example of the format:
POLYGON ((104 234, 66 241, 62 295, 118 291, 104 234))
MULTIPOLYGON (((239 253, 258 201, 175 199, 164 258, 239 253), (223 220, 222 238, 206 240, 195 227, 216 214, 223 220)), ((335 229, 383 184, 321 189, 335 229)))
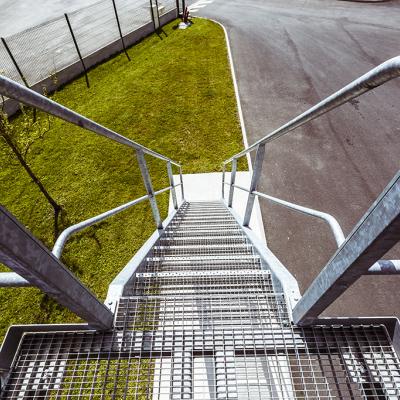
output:
POLYGON ((2 206, 0 262, 84 319, 91 327, 112 327, 112 312, 2 206))

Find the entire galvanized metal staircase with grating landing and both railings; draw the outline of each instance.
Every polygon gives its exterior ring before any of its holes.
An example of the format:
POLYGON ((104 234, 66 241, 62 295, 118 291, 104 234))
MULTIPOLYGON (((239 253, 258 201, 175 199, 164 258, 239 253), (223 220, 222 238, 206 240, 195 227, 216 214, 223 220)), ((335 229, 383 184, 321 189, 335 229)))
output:
POLYGON ((0 76, 0 94, 130 147, 146 189, 67 228, 52 251, 0 206, 0 262, 15 271, 1 273, 0 286, 37 286, 87 322, 10 327, 0 399, 399 399, 398 320, 319 316, 360 276, 400 272, 399 261, 380 260, 400 240, 400 172, 347 237, 331 215, 257 191, 270 141, 397 76, 400 57, 234 155, 224 163, 222 199, 208 202, 185 200, 181 166, 170 158, 0 76), (236 182, 237 161, 253 150, 247 188, 236 182), (145 155, 165 161, 168 187, 154 191, 145 155), (235 190, 247 193, 243 218, 232 208, 235 190), (161 221, 156 196, 166 191, 172 211, 161 221), (333 232, 338 249, 302 296, 249 227, 256 197, 320 218, 333 232), (64 245, 142 201, 157 229, 102 304, 60 261, 64 245))

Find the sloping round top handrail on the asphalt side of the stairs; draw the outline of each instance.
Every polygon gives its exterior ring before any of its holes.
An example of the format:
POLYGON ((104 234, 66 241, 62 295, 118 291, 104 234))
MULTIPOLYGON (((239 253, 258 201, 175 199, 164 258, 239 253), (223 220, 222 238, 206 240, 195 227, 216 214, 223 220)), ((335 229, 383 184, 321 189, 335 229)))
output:
POLYGON ((228 164, 233 159, 238 159, 250 151, 255 150, 261 144, 267 144, 275 139, 285 135, 286 133, 296 129, 305 123, 312 121, 313 119, 333 110, 356 97, 375 89, 376 87, 388 82, 394 78, 400 76, 400 56, 393 57, 371 71, 362 75, 360 78, 349 83, 347 86, 333 93, 326 99, 320 101, 315 106, 309 108, 304 113, 300 114, 296 118, 282 125, 278 129, 274 130, 270 134, 264 136, 257 142, 253 143, 247 149, 235 154, 228 160, 224 161, 224 164, 228 164))

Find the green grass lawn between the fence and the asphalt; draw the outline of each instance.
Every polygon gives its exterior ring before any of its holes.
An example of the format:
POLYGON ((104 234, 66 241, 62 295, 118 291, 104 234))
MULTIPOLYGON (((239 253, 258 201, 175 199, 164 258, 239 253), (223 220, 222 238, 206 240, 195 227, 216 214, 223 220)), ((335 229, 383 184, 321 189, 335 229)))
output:
MULTIPOLYGON (((224 33, 202 19, 184 31, 176 25, 130 48, 131 62, 121 54, 91 70, 90 89, 80 78, 52 97, 182 163, 184 173, 219 171, 243 147, 224 33)), ((167 186, 165 163, 147 161, 155 189, 167 186)), ((145 194, 132 149, 61 120, 53 120, 29 162, 63 206, 64 227, 145 194)), ((0 202, 51 248, 52 208, 1 141, 0 166, 0 202)), ((165 217, 168 194, 158 204, 165 217)), ((63 261, 104 299, 154 229, 142 203, 73 236, 63 261)), ((11 324, 78 320, 37 289, 0 289, 1 337, 11 324)))

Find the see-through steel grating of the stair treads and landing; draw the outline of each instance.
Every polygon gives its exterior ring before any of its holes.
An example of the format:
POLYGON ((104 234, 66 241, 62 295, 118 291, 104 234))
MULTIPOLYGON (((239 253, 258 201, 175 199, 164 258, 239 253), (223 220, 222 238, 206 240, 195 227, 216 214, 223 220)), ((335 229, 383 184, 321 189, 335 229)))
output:
POLYGON ((383 326, 294 327, 222 204, 187 203, 175 222, 114 330, 25 334, 2 399, 400 398, 383 326))

